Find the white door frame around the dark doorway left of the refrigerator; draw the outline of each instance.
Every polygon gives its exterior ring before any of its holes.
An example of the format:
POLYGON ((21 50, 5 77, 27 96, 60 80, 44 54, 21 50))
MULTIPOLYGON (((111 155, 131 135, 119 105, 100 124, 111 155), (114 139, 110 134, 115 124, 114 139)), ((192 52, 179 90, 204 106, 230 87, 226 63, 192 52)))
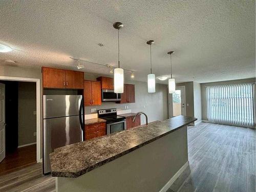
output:
POLYGON ((40 79, 25 78, 25 77, 9 77, 0 76, 0 80, 9 81, 25 81, 25 82, 36 82, 36 161, 37 163, 42 162, 41 160, 41 95, 40 95, 40 79))

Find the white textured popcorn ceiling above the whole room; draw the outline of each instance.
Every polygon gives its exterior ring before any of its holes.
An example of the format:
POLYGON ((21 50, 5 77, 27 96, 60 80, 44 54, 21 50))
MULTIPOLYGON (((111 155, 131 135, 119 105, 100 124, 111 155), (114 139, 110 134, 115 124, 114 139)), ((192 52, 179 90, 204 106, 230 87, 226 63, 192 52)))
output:
MULTIPOLYGON (((176 82, 255 77, 254 1, 1 1, 0 41, 16 50, 0 53, 0 65, 12 59, 76 69, 70 57, 79 57, 116 66, 114 22, 124 24, 120 65, 136 80, 150 72, 151 39, 156 76, 169 74, 167 52, 175 50, 176 82)), ((109 75, 105 67, 84 65, 87 73, 109 75)))

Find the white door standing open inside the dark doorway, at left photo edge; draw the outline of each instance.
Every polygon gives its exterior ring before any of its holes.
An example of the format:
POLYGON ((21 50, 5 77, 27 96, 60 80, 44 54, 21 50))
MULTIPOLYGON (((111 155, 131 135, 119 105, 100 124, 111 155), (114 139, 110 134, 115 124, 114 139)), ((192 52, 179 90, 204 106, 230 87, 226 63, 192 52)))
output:
POLYGON ((5 158, 5 84, 0 83, 0 162, 5 158))

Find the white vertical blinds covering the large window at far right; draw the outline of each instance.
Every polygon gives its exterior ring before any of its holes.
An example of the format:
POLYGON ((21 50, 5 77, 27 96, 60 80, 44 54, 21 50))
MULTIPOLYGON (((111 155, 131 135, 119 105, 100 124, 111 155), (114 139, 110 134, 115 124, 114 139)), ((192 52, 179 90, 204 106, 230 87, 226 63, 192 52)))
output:
POLYGON ((255 84, 206 88, 208 121, 254 126, 255 84))

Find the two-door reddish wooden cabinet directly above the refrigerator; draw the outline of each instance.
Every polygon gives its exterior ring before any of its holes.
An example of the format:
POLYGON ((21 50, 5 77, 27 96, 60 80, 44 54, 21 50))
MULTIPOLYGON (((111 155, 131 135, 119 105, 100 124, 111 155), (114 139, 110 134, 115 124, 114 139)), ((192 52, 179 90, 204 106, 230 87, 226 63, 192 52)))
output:
POLYGON ((83 89, 83 72, 42 67, 44 88, 83 89))

